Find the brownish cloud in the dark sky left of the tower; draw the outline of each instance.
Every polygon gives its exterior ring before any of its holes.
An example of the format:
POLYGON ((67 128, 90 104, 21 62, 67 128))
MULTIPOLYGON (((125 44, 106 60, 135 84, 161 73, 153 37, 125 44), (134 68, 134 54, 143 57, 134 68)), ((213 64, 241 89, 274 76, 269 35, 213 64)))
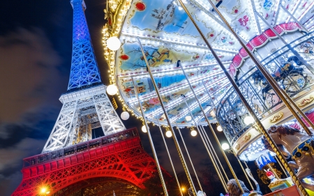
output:
POLYGON ((42 30, 17 29, 0 36, 0 59, 1 122, 18 121, 33 107, 57 103, 54 90, 64 80, 58 69, 62 61, 42 30))

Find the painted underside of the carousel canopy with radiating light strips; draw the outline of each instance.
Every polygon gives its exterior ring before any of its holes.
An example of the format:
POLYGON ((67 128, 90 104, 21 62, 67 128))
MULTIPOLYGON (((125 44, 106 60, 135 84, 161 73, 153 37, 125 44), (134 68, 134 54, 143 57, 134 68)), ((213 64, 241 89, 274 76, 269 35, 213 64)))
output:
MULTIPOLYGON (((235 77, 237 69, 248 57, 246 52, 241 50, 241 45, 207 0, 183 2, 220 60, 235 77)), ((217 0, 213 3, 252 51, 276 38, 268 25, 280 34, 301 30, 302 25, 308 31, 313 28, 313 0, 217 0), (295 22, 289 13, 298 21, 295 22)), ((149 121, 166 124, 137 43, 140 38, 170 120, 179 126, 192 126, 193 120, 181 96, 184 95, 195 120, 204 123, 186 77, 181 68, 177 68, 180 60, 209 120, 216 121, 214 107, 231 84, 179 1, 110 1, 109 8, 104 39, 118 36, 121 47, 117 52, 106 50, 105 57, 110 63, 111 81, 118 85, 124 105, 141 116, 134 91, 136 86, 149 121)), ((290 36, 287 42, 293 38, 290 36)))

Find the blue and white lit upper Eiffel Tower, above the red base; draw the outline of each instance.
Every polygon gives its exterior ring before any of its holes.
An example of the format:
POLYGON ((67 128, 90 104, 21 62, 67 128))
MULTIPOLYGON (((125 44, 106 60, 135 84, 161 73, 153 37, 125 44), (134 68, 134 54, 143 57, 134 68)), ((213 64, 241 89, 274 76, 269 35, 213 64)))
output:
POLYGON ((100 79, 84 0, 72 0, 71 4, 73 51, 68 91, 59 98, 63 106, 42 153, 91 140, 95 128, 101 127, 104 135, 126 129, 100 79))

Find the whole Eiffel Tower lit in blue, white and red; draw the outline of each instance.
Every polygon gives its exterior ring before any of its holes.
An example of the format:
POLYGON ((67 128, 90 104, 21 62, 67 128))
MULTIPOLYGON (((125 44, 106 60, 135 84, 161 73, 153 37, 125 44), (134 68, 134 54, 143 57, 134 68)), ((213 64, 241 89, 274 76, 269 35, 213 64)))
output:
POLYGON ((134 193, 156 172, 155 161, 142 148, 136 128, 126 130, 105 93, 84 0, 70 3, 73 53, 68 91, 59 98, 63 106, 42 153, 24 158, 22 182, 13 195, 112 195, 113 189, 119 195, 119 188, 123 194, 134 193), (96 128, 105 136, 93 139, 96 128))

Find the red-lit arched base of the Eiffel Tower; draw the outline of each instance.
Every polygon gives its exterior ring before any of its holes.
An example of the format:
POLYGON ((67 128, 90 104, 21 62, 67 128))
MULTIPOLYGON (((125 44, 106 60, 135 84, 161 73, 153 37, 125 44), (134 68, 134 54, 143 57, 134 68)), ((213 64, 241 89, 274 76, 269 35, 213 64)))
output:
POLYGON ((48 195, 71 195, 87 183, 100 184, 101 179, 111 179, 107 186, 124 181, 129 188, 144 188, 144 181, 156 172, 155 161, 142 148, 136 128, 23 161, 22 182, 13 195, 43 195, 42 188, 48 195))

